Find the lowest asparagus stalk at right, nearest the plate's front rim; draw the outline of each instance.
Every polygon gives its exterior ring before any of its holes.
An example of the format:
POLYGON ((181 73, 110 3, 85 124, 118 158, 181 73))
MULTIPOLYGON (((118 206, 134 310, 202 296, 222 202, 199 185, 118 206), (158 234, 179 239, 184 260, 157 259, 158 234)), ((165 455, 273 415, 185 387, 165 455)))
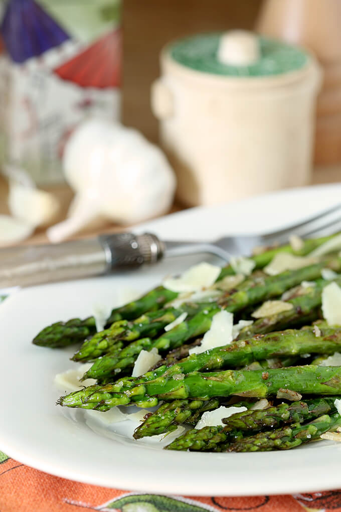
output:
MULTIPOLYGON (((327 431, 334 432, 339 426, 341 426, 341 416, 338 413, 331 416, 324 414, 307 424, 294 423, 282 429, 260 432, 255 436, 227 443, 226 450, 229 452, 290 450, 300 444, 319 439, 321 434, 327 431)), ((222 451, 220 446, 218 449, 222 451)))

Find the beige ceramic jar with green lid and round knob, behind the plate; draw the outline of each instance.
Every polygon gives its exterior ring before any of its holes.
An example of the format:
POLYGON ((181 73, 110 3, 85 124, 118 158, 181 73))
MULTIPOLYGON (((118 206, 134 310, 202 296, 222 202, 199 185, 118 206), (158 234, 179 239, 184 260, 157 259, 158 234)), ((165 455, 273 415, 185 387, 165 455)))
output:
POLYGON ((309 182, 315 59, 241 31, 181 39, 152 87, 177 198, 215 204, 309 182))

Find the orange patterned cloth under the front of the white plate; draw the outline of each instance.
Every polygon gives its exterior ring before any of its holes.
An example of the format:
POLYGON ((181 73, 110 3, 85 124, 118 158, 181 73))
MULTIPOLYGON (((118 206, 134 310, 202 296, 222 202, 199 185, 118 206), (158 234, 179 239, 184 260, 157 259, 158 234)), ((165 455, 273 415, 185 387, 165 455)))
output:
POLYGON ((0 452, 0 512, 341 512, 341 490, 252 496, 162 496, 65 480, 26 466, 0 452))

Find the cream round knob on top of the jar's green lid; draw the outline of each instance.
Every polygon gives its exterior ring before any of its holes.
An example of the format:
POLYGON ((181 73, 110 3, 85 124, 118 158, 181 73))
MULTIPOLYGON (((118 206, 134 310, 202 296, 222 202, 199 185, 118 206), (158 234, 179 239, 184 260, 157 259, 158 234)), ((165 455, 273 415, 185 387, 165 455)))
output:
POLYGON ((249 66, 260 59, 259 39, 246 30, 231 30, 221 35, 217 59, 228 66, 249 66))

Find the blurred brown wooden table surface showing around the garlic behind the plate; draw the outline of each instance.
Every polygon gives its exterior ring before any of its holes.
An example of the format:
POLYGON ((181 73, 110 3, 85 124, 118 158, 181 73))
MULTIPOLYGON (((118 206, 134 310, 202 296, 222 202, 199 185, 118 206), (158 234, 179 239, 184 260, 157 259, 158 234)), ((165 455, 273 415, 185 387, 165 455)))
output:
MULTIPOLYGON (((316 168, 313 172, 312 182, 311 184, 321 184, 321 183, 336 183, 341 182, 341 165, 335 165, 333 167, 328 168, 316 168)), ((69 187, 66 185, 59 185, 51 189, 53 190, 53 194, 60 200, 62 205, 60 220, 65 217, 67 208, 70 205, 70 202, 73 197, 73 193, 69 187)), ((0 214, 8 213, 7 208, 7 194, 8 187, 4 178, 0 177, 0 214)), ((177 202, 174 202, 172 208, 169 213, 173 213, 175 211, 179 211, 184 209, 185 207, 177 202)), ((88 229, 82 233, 77 234, 74 239, 85 238, 85 237, 93 237, 100 233, 112 233, 118 231, 126 230, 126 226, 120 226, 118 224, 106 223, 103 226, 96 229, 88 229)), ((25 240, 23 243, 25 245, 28 244, 42 244, 48 243, 48 238, 45 234, 45 230, 43 228, 38 228, 32 237, 25 240)))

